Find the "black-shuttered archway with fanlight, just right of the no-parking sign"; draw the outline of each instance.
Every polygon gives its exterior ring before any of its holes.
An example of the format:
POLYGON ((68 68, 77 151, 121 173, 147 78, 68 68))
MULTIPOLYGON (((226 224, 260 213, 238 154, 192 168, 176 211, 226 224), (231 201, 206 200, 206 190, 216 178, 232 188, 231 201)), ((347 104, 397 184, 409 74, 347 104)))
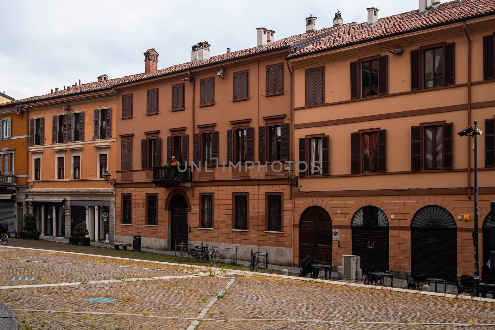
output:
POLYGON ((352 217, 352 254, 361 256, 361 267, 373 265, 389 271, 389 219, 382 209, 368 205, 352 217))

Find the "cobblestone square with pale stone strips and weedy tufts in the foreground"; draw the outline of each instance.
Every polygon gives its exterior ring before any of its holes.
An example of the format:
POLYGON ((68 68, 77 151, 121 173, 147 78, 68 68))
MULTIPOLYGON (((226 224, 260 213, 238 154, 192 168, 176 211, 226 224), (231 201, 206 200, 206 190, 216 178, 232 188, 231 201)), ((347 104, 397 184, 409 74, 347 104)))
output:
POLYGON ((3 285, 0 299, 17 314, 21 330, 463 330, 495 327, 495 300, 471 301, 236 275, 224 270, 217 270, 212 276, 213 271, 209 267, 199 269, 0 247, 0 286, 3 285), (40 280, 9 281, 10 276, 32 276, 40 280), (159 278, 121 281, 138 277, 159 278), (87 283, 94 280, 112 281, 87 283), (62 284, 67 281, 83 283, 62 284), (29 286, 19 287, 19 284, 29 286), (120 301, 84 300, 96 297, 120 301))

